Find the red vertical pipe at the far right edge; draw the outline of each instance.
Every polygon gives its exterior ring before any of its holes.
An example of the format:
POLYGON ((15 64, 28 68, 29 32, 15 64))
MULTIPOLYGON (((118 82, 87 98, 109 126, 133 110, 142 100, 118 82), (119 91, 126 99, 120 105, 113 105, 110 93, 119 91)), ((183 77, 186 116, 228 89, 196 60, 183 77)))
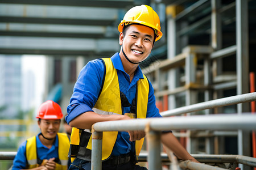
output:
MULTIPOLYGON (((250 92, 255 92, 255 74, 254 72, 250 72, 250 92)), ((255 113, 255 101, 251 101, 251 114, 255 113)), ((253 157, 256 158, 256 135, 255 131, 251 133, 252 138, 252 147, 253 147, 253 157)), ((256 170, 256 168, 254 168, 256 170)))

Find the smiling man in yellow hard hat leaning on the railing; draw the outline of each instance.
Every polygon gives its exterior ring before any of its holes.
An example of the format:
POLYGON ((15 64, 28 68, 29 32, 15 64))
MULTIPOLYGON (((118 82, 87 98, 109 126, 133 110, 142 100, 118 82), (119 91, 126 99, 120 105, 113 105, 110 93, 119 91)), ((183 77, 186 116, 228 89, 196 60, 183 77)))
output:
MULTIPOLYGON (((120 52, 88 62, 75 84, 66 116, 73 127, 69 169, 91 168, 94 123, 161 117, 152 84, 139 67, 162 37, 159 17, 150 6, 135 6, 127 11, 118 30, 120 52)), ((104 132, 102 169, 146 169, 136 165, 144 136, 144 131, 104 132)), ((171 131, 163 132, 161 139, 180 159, 197 162, 171 131)))

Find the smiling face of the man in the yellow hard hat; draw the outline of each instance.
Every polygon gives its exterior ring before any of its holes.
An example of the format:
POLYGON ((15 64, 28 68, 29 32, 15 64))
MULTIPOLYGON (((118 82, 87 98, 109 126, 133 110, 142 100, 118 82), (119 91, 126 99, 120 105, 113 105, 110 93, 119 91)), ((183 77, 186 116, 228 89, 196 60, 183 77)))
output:
POLYGON ((133 24, 126 28, 126 33, 119 35, 119 44, 123 52, 132 62, 146 59, 152 49, 155 33, 153 29, 144 25, 133 24))

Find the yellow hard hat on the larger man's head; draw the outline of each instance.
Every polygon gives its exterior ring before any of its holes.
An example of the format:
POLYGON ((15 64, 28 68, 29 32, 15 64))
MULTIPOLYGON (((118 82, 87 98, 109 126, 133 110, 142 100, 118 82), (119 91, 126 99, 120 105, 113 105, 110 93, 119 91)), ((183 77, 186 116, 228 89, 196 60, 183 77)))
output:
POLYGON ((123 20, 118 25, 118 31, 122 32, 123 26, 129 24, 142 24, 153 28, 156 34, 155 41, 159 40, 163 36, 163 33, 160 31, 161 27, 158 14, 156 14, 150 6, 135 6, 127 11, 123 20))

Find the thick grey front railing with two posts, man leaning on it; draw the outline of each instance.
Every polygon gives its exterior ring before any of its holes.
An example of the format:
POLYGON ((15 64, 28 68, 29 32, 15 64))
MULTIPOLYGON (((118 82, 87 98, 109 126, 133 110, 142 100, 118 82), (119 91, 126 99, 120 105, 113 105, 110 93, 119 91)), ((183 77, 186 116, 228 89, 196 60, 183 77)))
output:
MULTIPOLYGON (((140 120, 98 122, 93 125, 92 169, 101 169, 102 131, 127 130, 146 131, 148 140, 148 169, 161 169, 160 131, 171 129, 255 130, 256 115, 217 114, 209 116, 146 118, 140 120)), ((253 158, 253 160, 256 163, 256 159, 253 158)), ((185 163, 183 163, 183 166, 184 164, 185 163)), ((186 163, 185 165, 188 167, 196 166, 197 169, 203 169, 203 167, 207 168, 205 167, 206 165, 203 164, 196 165, 195 163, 186 163)))

